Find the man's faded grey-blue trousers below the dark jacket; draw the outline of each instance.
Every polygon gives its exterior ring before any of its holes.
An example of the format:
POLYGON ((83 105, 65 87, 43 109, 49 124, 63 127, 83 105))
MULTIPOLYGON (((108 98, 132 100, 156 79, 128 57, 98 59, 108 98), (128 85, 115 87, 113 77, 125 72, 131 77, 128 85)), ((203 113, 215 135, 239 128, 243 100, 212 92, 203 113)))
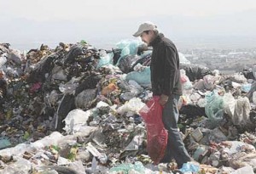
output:
POLYGON ((166 130, 168 131, 168 143, 166 147, 166 154, 162 159, 162 162, 171 162, 172 159, 175 159, 177 162, 177 167, 181 168, 183 163, 191 160, 191 157, 185 149, 183 140, 180 137, 180 133, 177 129, 178 99, 178 95, 172 95, 172 97, 169 97, 168 102, 163 109, 162 119, 166 130))

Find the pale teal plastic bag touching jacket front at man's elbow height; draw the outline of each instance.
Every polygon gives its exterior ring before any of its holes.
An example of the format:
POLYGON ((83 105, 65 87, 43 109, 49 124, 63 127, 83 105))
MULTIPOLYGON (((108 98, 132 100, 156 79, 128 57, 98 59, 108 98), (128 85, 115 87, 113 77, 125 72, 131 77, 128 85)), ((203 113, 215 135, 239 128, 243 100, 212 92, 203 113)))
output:
POLYGON ((148 87, 151 84, 150 79, 150 67, 145 67, 141 71, 132 71, 125 76, 126 81, 136 81, 139 85, 143 87, 148 87))

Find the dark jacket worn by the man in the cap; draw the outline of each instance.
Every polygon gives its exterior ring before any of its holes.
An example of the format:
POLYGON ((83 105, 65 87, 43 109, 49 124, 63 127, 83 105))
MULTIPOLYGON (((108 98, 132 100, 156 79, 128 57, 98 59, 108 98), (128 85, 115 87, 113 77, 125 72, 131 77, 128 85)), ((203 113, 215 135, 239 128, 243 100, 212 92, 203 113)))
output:
POLYGON ((151 58, 151 84, 154 95, 182 95, 177 48, 163 34, 150 42, 153 47, 151 58))

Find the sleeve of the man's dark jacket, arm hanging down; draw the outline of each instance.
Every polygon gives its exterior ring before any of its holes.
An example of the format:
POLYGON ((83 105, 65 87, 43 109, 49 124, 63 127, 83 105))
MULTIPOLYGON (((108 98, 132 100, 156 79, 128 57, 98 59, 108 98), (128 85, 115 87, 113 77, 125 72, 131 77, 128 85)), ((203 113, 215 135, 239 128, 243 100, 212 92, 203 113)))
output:
POLYGON ((177 58, 175 50, 172 47, 164 46, 163 50, 164 59, 164 81, 163 81, 163 94, 172 95, 175 81, 177 79, 177 58))

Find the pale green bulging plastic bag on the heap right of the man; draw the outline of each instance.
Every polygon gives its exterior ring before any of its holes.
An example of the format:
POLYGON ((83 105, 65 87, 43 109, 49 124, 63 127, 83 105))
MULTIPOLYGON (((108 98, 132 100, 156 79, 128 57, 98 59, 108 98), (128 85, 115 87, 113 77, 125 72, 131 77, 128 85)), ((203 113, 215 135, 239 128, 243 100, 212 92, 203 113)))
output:
POLYGON ((212 122, 218 122, 223 119, 224 100, 215 91, 206 94, 207 105, 205 107, 206 115, 212 122))

